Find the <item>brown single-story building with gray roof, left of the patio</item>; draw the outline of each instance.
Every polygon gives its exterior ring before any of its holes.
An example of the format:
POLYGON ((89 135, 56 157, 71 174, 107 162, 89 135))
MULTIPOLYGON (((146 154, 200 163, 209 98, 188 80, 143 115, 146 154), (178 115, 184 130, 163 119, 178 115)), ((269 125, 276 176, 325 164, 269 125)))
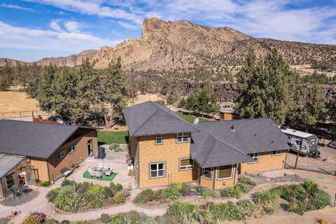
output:
MULTIPOLYGON (((34 174, 25 176, 29 181, 53 182, 62 176, 62 170, 71 169, 71 164, 79 164, 98 148, 94 127, 19 120, 0 120, 0 142, 2 155, 25 158, 26 174, 34 174)), ((6 169, 14 169, 16 165, 13 162, 8 166, 6 169)))

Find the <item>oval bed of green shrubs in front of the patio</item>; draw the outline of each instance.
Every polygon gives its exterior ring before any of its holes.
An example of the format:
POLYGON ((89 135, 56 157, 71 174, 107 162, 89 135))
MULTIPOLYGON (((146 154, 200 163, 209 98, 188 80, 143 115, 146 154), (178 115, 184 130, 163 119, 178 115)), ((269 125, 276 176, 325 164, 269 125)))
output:
POLYGON ((109 187, 94 183, 76 183, 64 180, 60 188, 51 190, 46 197, 57 209, 76 213, 112 204, 123 204, 130 196, 120 184, 110 183, 109 187))

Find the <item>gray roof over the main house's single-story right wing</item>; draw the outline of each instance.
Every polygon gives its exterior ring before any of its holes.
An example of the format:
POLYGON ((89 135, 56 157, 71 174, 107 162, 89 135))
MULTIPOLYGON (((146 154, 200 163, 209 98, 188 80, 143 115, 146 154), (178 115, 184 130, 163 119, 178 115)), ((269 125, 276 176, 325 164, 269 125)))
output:
POLYGON ((270 118, 204 122, 197 128, 201 132, 192 134, 190 153, 204 167, 241 163, 248 153, 288 149, 286 135, 270 118))

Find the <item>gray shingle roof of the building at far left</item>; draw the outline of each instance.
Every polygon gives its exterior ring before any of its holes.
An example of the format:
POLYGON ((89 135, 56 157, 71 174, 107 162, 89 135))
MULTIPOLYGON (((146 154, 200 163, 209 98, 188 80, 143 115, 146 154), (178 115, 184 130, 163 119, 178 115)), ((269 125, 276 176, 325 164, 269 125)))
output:
POLYGON ((0 153, 48 158, 78 126, 0 120, 0 153))

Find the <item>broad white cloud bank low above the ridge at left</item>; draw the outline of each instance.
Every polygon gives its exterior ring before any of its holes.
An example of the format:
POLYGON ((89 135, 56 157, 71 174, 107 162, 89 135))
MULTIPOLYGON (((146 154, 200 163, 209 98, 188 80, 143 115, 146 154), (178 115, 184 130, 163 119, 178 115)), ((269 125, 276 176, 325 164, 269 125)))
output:
POLYGON ((64 52, 79 52, 87 49, 99 49, 103 45, 113 46, 118 42, 120 41, 99 38, 91 34, 62 31, 62 29, 57 31, 14 27, 0 21, 0 48, 62 49, 64 52))

